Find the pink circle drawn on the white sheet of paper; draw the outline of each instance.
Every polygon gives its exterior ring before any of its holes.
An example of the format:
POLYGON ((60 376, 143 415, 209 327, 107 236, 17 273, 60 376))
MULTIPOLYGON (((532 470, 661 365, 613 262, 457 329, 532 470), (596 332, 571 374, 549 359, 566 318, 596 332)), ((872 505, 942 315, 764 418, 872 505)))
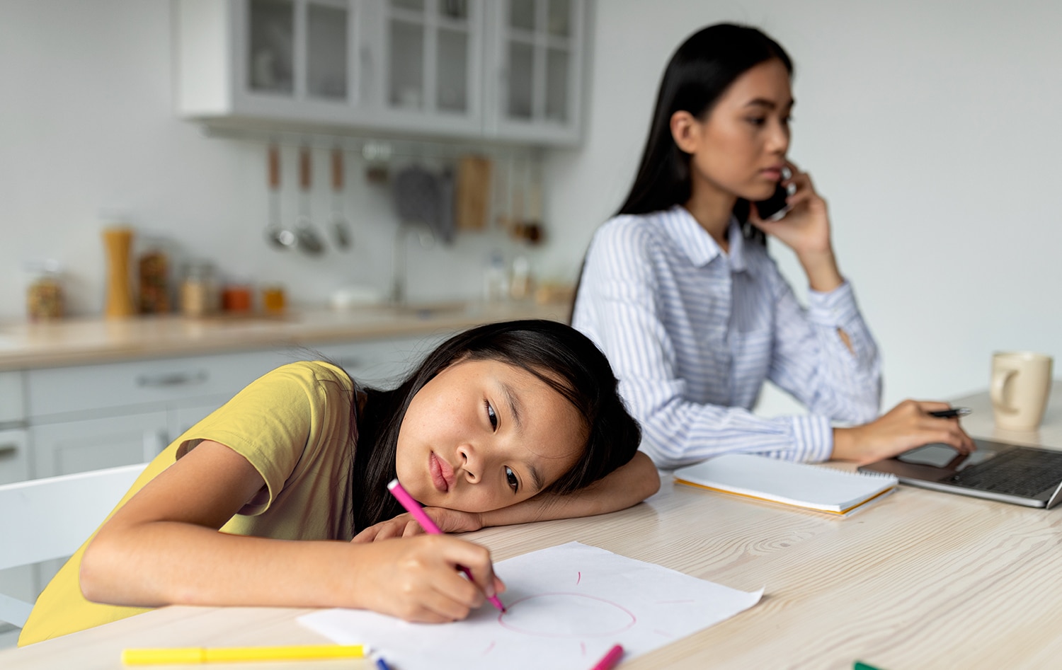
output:
POLYGON ((622 605, 583 594, 538 594, 507 605, 498 623, 541 637, 600 637, 615 635, 636 623, 622 605))

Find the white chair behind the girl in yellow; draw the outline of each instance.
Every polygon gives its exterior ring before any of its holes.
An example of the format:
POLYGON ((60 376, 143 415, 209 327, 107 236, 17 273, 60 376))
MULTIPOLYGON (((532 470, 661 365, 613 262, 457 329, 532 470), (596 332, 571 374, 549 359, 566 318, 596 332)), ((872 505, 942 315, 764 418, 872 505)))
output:
MULTIPOLYGON (((72 555, 147 465, 0 485, 0 570, 72 555)), ((0 594, 0 622, 22 628, 32 608, 0 594)))

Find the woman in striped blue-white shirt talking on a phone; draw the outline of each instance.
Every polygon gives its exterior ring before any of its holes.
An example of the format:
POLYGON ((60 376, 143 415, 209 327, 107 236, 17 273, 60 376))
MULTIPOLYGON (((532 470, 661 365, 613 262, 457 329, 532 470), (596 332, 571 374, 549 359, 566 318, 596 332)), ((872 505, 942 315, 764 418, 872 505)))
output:
POLYGON ((753 28, 712 25, 679 47, 634 186, 590 242, 572 325, 609 356, 662 467, 727 451, 857 462, 928 442, 969 451, 957 419, 928 413, 945 403, 905 400, 875 419, 877 348, 837 268, 826 203, 786 158, 791 76, 786 52, 753 28), (765 221, 750 202, 780 183, 790 210, 765 221), (808 309, 764 234, 795 252, 808 309), (767 379, 811 414, 753 415, 767 379))

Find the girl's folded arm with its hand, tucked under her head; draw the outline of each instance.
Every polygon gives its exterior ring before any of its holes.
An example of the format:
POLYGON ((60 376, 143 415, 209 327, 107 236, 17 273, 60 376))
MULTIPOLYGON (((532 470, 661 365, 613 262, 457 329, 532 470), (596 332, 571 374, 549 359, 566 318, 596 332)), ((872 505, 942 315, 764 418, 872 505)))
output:
MULTIPOLYGON (((629 463, 603 479, 567 495, 538 494, 524 502, 481 512, 459 512, 426 508, 431 519, 446 533, 477 531, 486 526, 509 526, 577 516, 593 516, 624 510, 653 495, 661 487, 660 473, 648 456, 636 451, 629 463)), ((358 533, 355 543, 371 543, 423 532, 408 514, 371 526, 358 533)))

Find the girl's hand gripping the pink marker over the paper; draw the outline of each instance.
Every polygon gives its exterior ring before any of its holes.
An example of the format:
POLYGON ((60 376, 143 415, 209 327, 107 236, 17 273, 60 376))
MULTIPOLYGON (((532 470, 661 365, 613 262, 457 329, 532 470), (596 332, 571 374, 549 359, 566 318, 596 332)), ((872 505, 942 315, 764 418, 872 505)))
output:
POLYGON ((494 575, 485 547, 423 535, 358 547, 354 588, 361 606, 406 621, 441 623, 464 619, 486 598, 506 590, 494 575), (475 583, 459 572, 467 568, 475 583))

